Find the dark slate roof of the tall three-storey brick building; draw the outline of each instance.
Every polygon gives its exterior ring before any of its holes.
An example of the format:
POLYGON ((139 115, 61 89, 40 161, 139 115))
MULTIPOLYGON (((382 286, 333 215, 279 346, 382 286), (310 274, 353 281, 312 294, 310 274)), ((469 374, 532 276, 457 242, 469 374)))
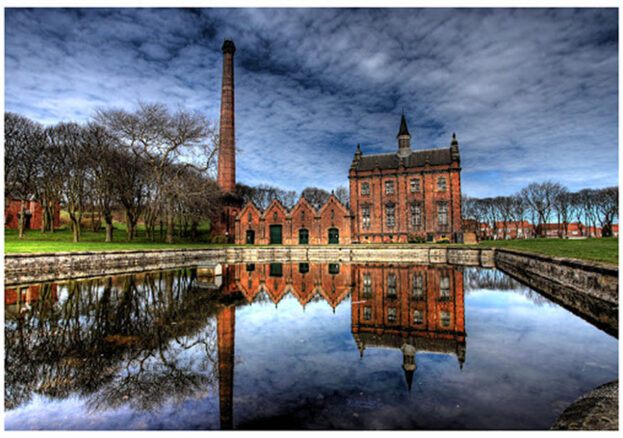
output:
MULTIPOLYGON (((356 171, 374 170, 377 165, 380 170, 397 169, 401 158, 395 153, 362 155, 359 162, 353 162, 353 169, 356 171)), ((431 166, 452 164, 452 151, 450 148, 425 149, 413 151, 410 155, 402 159, 405 167, 424 167, 426 161, 431 166)))

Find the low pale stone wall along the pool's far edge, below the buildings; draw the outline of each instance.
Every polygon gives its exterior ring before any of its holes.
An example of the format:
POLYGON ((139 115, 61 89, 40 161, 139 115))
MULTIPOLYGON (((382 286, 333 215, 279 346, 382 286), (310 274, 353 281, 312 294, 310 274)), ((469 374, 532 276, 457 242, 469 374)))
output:
POLYGON ((94 275, 113 275, 188 264, 262 263, 271 261, 329 263, 402 262, 493 267, 493 250, 448 246, 268 246, 206 249, 131 250, 102 252, 7 254, 5 285, 94 275))

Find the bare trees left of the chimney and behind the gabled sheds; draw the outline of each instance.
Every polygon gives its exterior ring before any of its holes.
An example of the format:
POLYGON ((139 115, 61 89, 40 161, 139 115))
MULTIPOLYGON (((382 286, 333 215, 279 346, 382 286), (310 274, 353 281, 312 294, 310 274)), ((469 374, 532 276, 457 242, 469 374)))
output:
MULTIPOLYGON (((93 231, 104 223, 106 242, 113 240, 113 217, 120 214, 128 241, 136 237, 141 221, 147 238, 155 240, 159 227, 160 238, 168 243, 176 231, 195 241, 200 223, 219 217, 218 125, 199 113, 139 102, 131 111, 98 109, 83 124, 43 126, 10 112, 4 121, 5 206, 21 201, 20 237, 28 201, 42 208, 42 233, 54 232, 55 207, 62 206, 74 242, 89 216, 93 231)), ((253 201, 260 209, 273 199, 292 208, 299 198, 296 191, 265 184, 237 184, 236 192, 241 202, 253 201)), ((348 205, 345 187, 334 193, 348 205)), ((318 209, 330 193, 308 187, 301 196, 318 209)))

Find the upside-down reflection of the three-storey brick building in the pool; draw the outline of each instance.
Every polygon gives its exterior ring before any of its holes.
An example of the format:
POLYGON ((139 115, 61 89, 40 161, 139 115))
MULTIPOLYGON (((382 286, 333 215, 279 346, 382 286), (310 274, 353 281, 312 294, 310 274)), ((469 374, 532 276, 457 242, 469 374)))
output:
POLYGON ((411 389, 416 352, 465 362, 463 273, 451 266, 353 266, 352 333, 366 348, 399 349, 411 389))

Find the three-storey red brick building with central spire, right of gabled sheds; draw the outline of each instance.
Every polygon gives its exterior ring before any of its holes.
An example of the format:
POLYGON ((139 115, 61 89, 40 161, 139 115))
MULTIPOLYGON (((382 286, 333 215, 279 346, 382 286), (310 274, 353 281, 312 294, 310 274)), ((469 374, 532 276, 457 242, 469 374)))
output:
POLYGON ((411 150, 402 115, 398 151, 363 155, 350 167, 353 242, 462 241, 459 143, 449 148, 411 150))

